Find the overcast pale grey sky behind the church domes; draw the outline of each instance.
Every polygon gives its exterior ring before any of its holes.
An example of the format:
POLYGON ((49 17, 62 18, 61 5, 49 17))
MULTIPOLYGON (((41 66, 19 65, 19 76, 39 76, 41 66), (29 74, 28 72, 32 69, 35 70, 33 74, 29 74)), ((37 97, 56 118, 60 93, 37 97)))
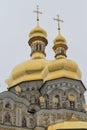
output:
POLYGON ((68 58, 79 65, 87 88, 87 0, 0 0, 0 91, 6 90, 5 80, 12 69, 29 59, 28 34, 36 25, 36 5, 43 12, 40 26, 48 33, 47 59, 54 58, 57 23, 53 18, 59 14, 64 20, 61 32, 67 39, 68 58))

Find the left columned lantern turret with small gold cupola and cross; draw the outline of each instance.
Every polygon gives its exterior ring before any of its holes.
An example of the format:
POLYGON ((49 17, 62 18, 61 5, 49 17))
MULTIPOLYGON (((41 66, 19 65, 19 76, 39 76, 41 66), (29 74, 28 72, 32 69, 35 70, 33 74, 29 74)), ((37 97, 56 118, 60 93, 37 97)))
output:
POLYGON ((47 33, 46 31, 40 27, 39 25, 39 14, 42 12, 39 11, 37 6, 37 10, 34 11, 37 13, 37 25, 34 29, 32 29, 29 33, 29 45, 31 47, 31 58, 45 58, 45 47, 48 43, 47 41, 47 33))

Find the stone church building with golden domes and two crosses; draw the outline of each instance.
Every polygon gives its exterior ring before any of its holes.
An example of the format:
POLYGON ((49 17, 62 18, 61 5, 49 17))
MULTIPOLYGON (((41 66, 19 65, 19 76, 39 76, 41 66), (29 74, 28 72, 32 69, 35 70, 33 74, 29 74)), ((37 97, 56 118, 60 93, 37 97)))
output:
POLYGON ((58 33, 54 60, 46 59, 47 32, 37 24, 29 33, 30 59, 17 65, 0 93, 0 130, 87 130, 87 111, 78 65, 67 58, 68 45, 58 33))

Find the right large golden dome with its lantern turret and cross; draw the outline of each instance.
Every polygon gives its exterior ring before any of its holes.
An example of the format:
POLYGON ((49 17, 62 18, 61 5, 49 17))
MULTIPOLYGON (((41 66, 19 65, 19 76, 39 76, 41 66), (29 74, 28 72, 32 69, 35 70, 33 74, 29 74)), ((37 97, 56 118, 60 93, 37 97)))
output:
POLYGON ((48 63, 47 69, 49 73, 47 76, 44 76, 46 77, 45 81, 62 77, 80 80, 81 72, 78 65, 74 61, 67 59, 66 50, 68 46, 66 44, 66 39, 60 32, 60 22, 63 22, 63 20, 60 20, 59 16, 54 20, 58 22, 58 35, 54 39, 53 46, 55 60, 48 63))

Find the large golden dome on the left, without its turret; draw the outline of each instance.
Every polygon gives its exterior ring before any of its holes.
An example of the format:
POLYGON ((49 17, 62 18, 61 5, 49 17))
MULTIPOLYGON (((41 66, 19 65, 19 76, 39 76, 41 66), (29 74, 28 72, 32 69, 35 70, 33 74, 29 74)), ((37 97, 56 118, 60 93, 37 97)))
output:
POLYGON ((45 59, 28 60, 22 64, 17 65, 9 79, 6 80, 8 88, 24 81, 41 80, 42 72, 48 63, 45 59))

